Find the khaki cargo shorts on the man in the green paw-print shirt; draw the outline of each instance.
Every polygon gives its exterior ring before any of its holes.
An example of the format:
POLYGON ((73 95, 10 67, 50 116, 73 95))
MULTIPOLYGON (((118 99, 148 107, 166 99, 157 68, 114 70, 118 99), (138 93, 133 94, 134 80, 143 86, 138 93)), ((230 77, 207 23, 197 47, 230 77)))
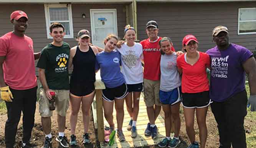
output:
MULTIPOLYGON (((55 91, 55 111, 58 115, 64 117, 69 106, 69 90, 53 90, 55 91)), ((39 112, 41 117, 53 116, 53 111, 49 109, 49 99, 45 95, 45 90, 40 88, 39 112)))

